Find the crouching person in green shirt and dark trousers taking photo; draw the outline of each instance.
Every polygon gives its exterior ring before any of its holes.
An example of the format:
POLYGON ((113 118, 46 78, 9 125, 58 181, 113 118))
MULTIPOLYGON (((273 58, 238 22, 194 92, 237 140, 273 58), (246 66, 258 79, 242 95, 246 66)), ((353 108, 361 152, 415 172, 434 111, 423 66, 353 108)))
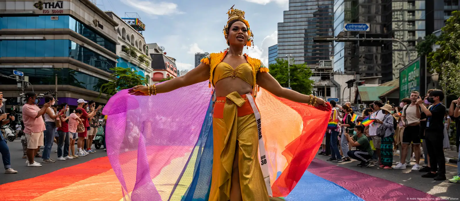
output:
POLYGON ((362 125, 356 125, 353 133, 355 135, 352 137, 349 135, 344 135, 346 136, 348 142, 351 143, 351 146, 357 148, 357 150, 348 151, 348 156, 355 160, 361 161, 358 166, 367 168, 370 166, 368 160, 372 158, 373 151, 368 137, 364 135, 364 127, 362 125))

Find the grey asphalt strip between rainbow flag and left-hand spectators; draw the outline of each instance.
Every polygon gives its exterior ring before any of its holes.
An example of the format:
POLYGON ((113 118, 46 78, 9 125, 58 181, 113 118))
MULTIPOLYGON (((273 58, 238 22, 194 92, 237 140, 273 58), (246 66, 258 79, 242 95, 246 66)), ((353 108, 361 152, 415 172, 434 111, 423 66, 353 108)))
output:
MULTIPOLYGON (((5 174, 3 172, 0 172, 0 184, 6 184, 18 180, 23 180, 23 179, 29 179, 29 178, 34 178, 46 173, 51 173, 54 172, 58 169, 62 168, 67 168, 76 164, 80 164, 83 162, 90 161, 92 159, 98 158, 98 157, 104 157, 107 156, 107 152, 105 152, 103 149, 104 147, 101 147, 101 149, 95 149, 93 145, 93 150, 96 151, 96 153, 90 153, 87 156, 83 156, 80 158, 75 158, 71 160, 65 160, 65 161, 56 161, 54 163, 42 163, 41 158, 36 160, 37 162, 40 162, 42 167, 27 167, 26 160, 23 159, 23 146, 21 144, 21 140, 14 140, 13 142, 7 142, 8 148, 10 149, 10 154, 11 154, 11 168, 17 171, 16 174, 5 174)), ((57 145, 53 143, 52 149, 51 149, 51 158, 56 160, 57 159, 57 153, 54 151, 57 150, 57 145)), ((77 150, 77 144, 75 144, 75 151, 77 150)), ((43 151, 43 147, 41 147, 41 151, 43 151)), ((40 151, 40 152, 41 152, 40 151)), ((3 168, 3 162, 0 161, 1 167, 3 168)), ((3 171, 3 169, 2 169, 3 171)))

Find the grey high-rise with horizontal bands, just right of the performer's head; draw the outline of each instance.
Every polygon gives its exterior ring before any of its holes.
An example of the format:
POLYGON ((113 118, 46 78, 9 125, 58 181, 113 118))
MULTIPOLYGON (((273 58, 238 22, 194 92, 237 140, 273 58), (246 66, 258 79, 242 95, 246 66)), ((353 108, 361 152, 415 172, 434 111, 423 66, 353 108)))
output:
POLYGON ((313 43, 315 36, 333 34, 334 0, 290 0, 278 23, 278 55, 295 64, 316 65, 333 55, 331 43, 313 43))

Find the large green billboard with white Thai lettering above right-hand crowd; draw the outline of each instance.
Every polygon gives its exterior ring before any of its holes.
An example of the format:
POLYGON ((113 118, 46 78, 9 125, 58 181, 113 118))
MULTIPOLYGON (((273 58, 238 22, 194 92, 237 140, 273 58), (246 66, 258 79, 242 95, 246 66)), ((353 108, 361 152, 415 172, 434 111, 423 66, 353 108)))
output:
POLYGON ((420 60, 399 72, 399 99, 408 98, 412 91, 420 92, 420 60))

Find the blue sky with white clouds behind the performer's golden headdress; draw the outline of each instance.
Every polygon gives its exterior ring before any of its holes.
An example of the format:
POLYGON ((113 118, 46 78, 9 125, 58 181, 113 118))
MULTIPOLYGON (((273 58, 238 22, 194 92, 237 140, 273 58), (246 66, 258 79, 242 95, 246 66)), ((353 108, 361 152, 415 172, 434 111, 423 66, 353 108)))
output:
POLYGON ((96 4, 119 17, 137 12, 145 24, 146 43, 164 46, 167 56, 176 58, 179 70, 194 67, 196 52, 228 47, 222 29, 234 4, 245 11, 254 33, 254 48, 245 52, 268 64, 268 47, 277 43, 277 23, 288 10, 288 0, 97 0, 96 4))

